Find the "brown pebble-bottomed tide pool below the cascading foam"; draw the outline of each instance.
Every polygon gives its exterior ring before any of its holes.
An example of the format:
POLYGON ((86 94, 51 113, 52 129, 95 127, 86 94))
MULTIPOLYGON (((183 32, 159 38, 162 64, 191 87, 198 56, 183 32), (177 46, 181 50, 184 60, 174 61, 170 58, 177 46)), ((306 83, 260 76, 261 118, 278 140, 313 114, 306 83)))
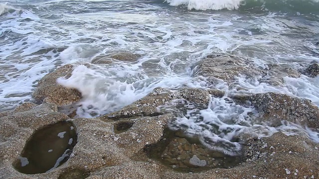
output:
POLYGON ((185 173, 202 172, 214 168, 229 169, 243 161, 243 156, 232 157, 211 151, 198 139, 185 137, 181 131, 171 131, 168 128, 164 129, 159 142, 148 145, 143 150, 147 157, 160 161, 175 171, 185 173))

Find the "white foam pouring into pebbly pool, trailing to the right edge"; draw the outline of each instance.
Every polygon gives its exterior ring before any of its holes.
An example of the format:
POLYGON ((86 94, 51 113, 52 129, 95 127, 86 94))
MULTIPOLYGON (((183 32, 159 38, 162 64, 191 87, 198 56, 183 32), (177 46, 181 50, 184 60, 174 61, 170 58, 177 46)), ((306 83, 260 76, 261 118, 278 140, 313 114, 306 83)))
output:
POLYGON ((203 106, 175 100, 159 109, 178 115, 168 124, 170 129, 181 130, 186 136, 197 138, 208 149, 230 156, 241 154, 242 146, 235 141, 243 133, 265 137, 282 131, 286 135, 303 134, 319 143, 319 133, 313 129, 288 121, 282 121, 282 125, 278 127, 269 127, 269 121, 256 120, 258 112, 253 106, 236 104, 227 97, 212 98, 207 108, 200 107, 203 106), (185 109, 187 112, 181 113, 185 109))

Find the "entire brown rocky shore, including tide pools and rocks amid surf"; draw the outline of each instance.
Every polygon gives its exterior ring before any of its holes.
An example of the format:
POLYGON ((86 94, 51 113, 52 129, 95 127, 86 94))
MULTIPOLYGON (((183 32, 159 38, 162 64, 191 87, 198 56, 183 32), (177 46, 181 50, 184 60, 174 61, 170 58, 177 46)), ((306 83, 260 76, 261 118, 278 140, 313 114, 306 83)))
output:
MULTIPOLYGON (((113 54, 95 62, 136 58, 134 54, 113 54)), ((286 76, 317 76, 318 67, 312 64, 298 71, 272 64, 259 69, 249 59, 222 55, 194 64, 192 76, 206 78, 212 87, 220 80, 231 84, 239 75, 268 76, 264 83, 281 86, 286 76)), ((308 99, 275 92, 228 96, 236 105, 251 106, 258 112, 252 116, 256 125, 267 123, 278 129, 265 137, 243 130, 232 141, 241 150, 230 156, 208 149, 181 129, 169 128, 171 121, 185 113, 180 112, 186 110, 183 106, 161 108, 178 100, 207 108, 212 99, 227 95, 225 91, 156 88, 119 111, 73 118, 72 112, 62 113, 59 108, 81 100, 81 92, 56 82, 60 77, 69 78, 73 68, 65 65, 38 82, 33 98, 39 104, 23 103, 0 113, 1 179, 319 178, 319 143, 315 142, 319 136, 307 132, 319 130, 319 108, 308 99), (283 123, 307 128, 279 130, 283 123)))

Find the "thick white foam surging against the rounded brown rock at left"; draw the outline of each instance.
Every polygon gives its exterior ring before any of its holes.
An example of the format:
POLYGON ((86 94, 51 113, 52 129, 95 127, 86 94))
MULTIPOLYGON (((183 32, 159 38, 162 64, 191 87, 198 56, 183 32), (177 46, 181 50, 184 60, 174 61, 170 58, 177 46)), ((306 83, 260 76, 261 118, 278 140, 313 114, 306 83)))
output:
POLYGON ((79 102, 81 107, 77 109, 78 116, 82 117, 119 110, 157 87, 176 88, 191 82, 190 77, 167 75, 160 79, 149 78, 139 71, 142 70, 137 66, 92 70, 80 65, 73 70, 70 78, 60 78, 57 82, 82 93, 83 99, 79 102))

